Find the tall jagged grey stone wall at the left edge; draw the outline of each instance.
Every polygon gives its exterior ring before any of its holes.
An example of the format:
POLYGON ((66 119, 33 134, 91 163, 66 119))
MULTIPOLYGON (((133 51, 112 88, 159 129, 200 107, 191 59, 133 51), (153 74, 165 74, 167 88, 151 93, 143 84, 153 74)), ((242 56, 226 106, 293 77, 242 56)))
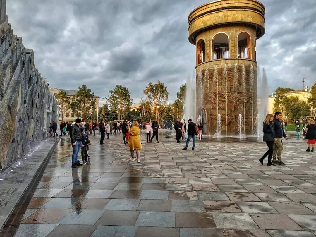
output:
POLYGON ((57 121, 54 95, 34 67, 34 53, 13 34, 0 0, 0 169, 49 135, 57 121))

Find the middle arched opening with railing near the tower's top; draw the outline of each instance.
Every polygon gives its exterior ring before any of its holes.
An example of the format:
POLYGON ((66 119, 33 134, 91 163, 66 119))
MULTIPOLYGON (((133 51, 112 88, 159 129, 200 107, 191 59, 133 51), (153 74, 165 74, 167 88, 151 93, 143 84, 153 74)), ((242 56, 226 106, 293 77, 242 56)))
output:
POLYGON ((228 35, 225 33, 217 33, 212 40, 212 60, 229 58, 228 35))

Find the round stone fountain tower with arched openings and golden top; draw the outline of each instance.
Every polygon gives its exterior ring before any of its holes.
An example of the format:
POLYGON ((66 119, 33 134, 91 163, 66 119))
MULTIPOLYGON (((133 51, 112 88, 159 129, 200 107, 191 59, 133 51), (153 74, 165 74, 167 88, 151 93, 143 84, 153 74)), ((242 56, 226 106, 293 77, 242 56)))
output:
POLYGON ((264 13, 256 0, 219 0, 188 17, 189 41, 196 46, 197 116, 205 134, 256 134, 256 40, 265 32, 264 13))

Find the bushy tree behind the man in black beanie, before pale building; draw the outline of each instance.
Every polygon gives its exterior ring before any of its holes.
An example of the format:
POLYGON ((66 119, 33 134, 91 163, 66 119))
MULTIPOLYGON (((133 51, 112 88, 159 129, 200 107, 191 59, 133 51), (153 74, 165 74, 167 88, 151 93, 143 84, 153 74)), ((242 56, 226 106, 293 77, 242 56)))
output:
POLYGON ((70 107, 78 118, 82 120, 92 119, 96 108, 94 93, 91 92, 91 89, 88 89, 85 84, 82 84, 72 99, 70 107))

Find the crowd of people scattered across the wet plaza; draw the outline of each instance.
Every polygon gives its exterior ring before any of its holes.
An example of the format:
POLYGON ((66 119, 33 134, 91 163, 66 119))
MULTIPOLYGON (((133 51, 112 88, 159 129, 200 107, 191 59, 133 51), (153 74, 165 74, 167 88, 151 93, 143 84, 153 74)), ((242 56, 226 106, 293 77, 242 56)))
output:
MULTIPOLYGON (((267 114, 264 122, 263 122, 263 141, 266 143, 268 150, 265 154, 259 159, 259 162, 263 165, 264 159, 268 156, 268 166, 276 166, 282 165, 285 163, 282 161, 282 151, 283 151, 283 141, 282 138, 288 140, 288 137, 283 129, 283 125, 287 128, 287 121, 285 120, 283 123, 282 113, 275 112, 275 114, 267 114)), ((187 150, 189 143, 192 139, 192 151, 195 149, 195 141, 197 138, 202 139, 203 133, 203 124, 198 121, 195 124, 192 119, 188 120, 188 125, 186 125, 184 119, 177 118, 174 123, 175 135, 177 143, 181 143, 181 141, 185 142, 185 147, 182 150, 187 150), (185 133, 187 133, 187 137, 185 137, 185 133), (185 140, 186 139, 186 140, 185 140)), ((50 136, 58 136, 57 128, 58 125, 56 122, 50 124, 50 136), (52 134, 53 132, 53 134, 52 134)), ((87 165, 90 164, 90 156, 88 154, 89 145, 91 145, 91 141, 89 139, 89 135, 94 134, 95 130, 99 131, 101 134, 100 137, 100 145, 105 144, 104 139, 110 138, 110 134, 117 135, 123 134, 123 142, 125 145, 128 145, 131 151, 130 161, 135 161, 134 153, 136 151, 136 161, 140 162, 140 150, 142 149, 142 143, 140 139, 140 132, 142 129, 146 131, 146 142, 152 143, 153 139, 156 138, 156 143, 159 143, 158 140, 158 130, 160 129, 159 123, 157 119, 144 123, 138 123, 137 121, 129 121, 124 120, 122 124, 120 121, 106 122, 103 119, 100 122, 92 121, 92 122, 82 122, 81 119, 76 119, 76 121, 71 124, 60 122, 60 136, 65 136, 66 131, 67 135, 70 135, 71 145, 73 149, 72 154, 72 166, 75 168, 78 165, 87 165), (112 130, 114 132, 112 133, 112 130), (82 163, 78 161, 78 153, 81 149, 82 155, 82 163)), ((304 126, 304 133, 307 139, 307 149, 306 151, 314 151, 315 147, 315 139, 316 139, 316 125, 314 119, 310 119, 308 124, 304 126)))

